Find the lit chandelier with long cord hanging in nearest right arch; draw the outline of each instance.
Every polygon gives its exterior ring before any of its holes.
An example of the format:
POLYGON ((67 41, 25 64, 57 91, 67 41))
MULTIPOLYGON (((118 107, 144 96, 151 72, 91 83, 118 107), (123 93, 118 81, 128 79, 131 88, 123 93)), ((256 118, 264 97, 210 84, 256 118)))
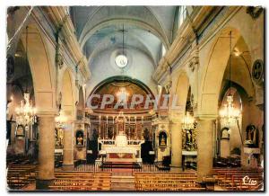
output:
MULTIPOLYGON (((230 31, 230 60, 229 60, 229 77, 231 77, 231 31, 230 31)), ((229 79, 230 88, 229 94, 227 95, 227 103, 223 105, 220 110, 221 124, 226 127, 230 127, 236 124, 241 115, 241 111, 234 107, 233 95, 230 93, 231 90, 231 79, 229 79)))

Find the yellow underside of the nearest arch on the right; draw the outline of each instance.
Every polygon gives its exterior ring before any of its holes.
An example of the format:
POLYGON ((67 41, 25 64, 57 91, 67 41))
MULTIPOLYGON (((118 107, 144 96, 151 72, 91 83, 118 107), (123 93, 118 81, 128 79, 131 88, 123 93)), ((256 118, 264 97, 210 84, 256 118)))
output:
MULTIPOLYGON (((226 67, 230 59, 230 31, 231 31, 231 49, 234 49, 239 40, 244 38, 239 30, 227 27, 219 32, 217 38, 213 41, 209 50, 207 60, 202 69, 200 90, 198 96, 198 115, 213 116, 218 115, 218 102, 221 94, 221 85, 226 67)), ((246 44, 246 42, 244 41, 246 44)), ((247 46, 247 45, 246 45, 247 46)), ((240 67, 240 68, 246 68, 240 67)), ((251 78, 247 76, 247 79, 251 78)))

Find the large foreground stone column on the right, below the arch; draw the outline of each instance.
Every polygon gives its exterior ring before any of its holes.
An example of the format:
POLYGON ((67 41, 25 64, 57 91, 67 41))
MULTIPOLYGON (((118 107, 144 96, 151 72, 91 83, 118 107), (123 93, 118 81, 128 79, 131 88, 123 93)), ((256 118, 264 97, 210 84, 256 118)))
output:
POLYGON ((198 120, 197 182, 213 173, 213 119, 198 120))

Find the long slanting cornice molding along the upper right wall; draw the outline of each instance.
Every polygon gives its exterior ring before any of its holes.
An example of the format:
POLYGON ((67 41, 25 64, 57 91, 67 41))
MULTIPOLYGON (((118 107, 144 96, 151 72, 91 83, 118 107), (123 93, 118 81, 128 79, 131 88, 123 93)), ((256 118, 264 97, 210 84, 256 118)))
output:
MULTIPOLYGON (((234 13, 239 11, 239 9, 239 6, 234 6, 228 11, 224 10, 224 13, 218 16, 221 17, 221 20, 218 23, 224 25, 227 22, 227 18, 232 17, 234 13)), ((200 47, 203 47, 208 39, 211 39, 214 31, 218 31, 218 28, 216 29, 216 27, 211 24, 211 21, 213 21, 214 17, 217 17, 222 10, 221 6, 197 6, 195 8, 195 12, 193 12, 193 14, 189 16, 189 19, 178 29, 177 37, 173 41, 165 57, 161 58, 161 61, 156 67, 152 78, 157 83, 161 83, 167 76, 165 69, 166 64, 169 64, 173 71, 178 68, 178 66, 181 67, 182 65, 187 65, 191 70, 195 68, 193 65, 197 65, 199 60, 198 58, 194 58, 193 53, 195 53, 198 48, 200 49, 200 47), (204 22, 206 22, 206 24, 204 24, 204 22), (200 32, 199 38, 197 37, 198 32, 200 32), (202 34, 203 38, 201 38, 202 34), (197 39, 199 39, 199 43, 197 39), (193 62, 195 62, 195 64, 193 64, 193 62)))

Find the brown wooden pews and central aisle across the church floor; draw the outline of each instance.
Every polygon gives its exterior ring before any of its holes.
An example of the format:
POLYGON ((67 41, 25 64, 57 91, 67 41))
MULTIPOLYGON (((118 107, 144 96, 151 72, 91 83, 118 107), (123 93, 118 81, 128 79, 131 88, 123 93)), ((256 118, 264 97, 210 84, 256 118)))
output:
MULTIPOLYGON (((29 161, 30 157, 16 157, 9 160, 7 166, 8 187, 15 190, 35 191, 38 165, 29 161), (20 163, 18 162, 20 161, 20 163)), ((201 192, 201 191, 257 191, 263 187, 263 169, 243 170, 239 167, 214 167, 213 180, 208 183, 196 182, 196 171, 185 172, 160 170, 157 165, 112 165, 82 164, 73 171, 56 168, 54 183, 49 185, 52 191, 139 191, 139 192, 201 192), (125 168, 124 168, 125 167, 125 168), (242 178, 257 182, 244 184, 242 178)))

